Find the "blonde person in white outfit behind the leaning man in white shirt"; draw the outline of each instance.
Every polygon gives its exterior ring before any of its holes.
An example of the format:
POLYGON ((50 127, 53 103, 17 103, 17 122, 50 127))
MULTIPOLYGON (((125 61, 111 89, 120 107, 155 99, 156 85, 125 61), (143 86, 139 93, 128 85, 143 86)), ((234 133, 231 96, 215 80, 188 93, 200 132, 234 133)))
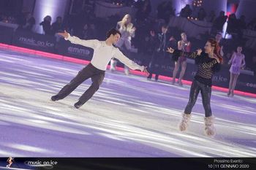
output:
MULTIPOLYGON (((127 14, 124 15, 124 18, 119 21, 116 24, 116 29, 120 31, 121 33, 121 38, 119 39, 118 42, 116 42, 116 47, 118 47, 120 50, 127 50, 127 52, 133 52, 137 53, 138 49, 132 47, 131 40, 133 37, 135 37, 135 31, 136 28, 133 26, 132 22, 132 17, 131 15, 127 14)), ((116 70, 116 63, 117 61, 112 58, 110 61, 110 71, 116 70)), ((129 68, 127 66, 124 66, 124 72, 125 74, 129 74, 129 68)))

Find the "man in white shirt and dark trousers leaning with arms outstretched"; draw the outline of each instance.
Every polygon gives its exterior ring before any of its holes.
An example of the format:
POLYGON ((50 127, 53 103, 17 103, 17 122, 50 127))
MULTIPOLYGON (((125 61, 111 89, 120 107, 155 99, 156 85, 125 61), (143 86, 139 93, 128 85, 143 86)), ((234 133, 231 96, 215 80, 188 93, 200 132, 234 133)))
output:
POLYGON ((72 44, 91 47, 94 49, 94 55, 91 59, 91 63, 89 63, 88 66, 80 70, 77 76, 67 85, 65 85, 57 95, 51 97, 52 101, 58 101, 65 98, 83 81, 91 78, 92 84, 90 88, 86 90, 86 92, 80 96, 79 101, 74 104, 74 107, 79 109, 99 89, 99 85, 102 84, 102 81, 105 77, 105 70, 107 69, 111 58, 118 59, 127 65, 130 69, 138 69, 141 72, 148 74, 145 66, 139 66, 137 63, 129 60, 129 58, 127 58, 123 53, 121 53, 120 50, 118 50, 118 48, 113 46, 121 37, 121 33, 114 28, 108 31, 107 39, 105 41, 99 41, 97 39, 82 40, 78 37, 70 36, 67 31, 64 31, 64 33, 59 33, 59 35, 63 36, 66 40, 69 40, 72 44))

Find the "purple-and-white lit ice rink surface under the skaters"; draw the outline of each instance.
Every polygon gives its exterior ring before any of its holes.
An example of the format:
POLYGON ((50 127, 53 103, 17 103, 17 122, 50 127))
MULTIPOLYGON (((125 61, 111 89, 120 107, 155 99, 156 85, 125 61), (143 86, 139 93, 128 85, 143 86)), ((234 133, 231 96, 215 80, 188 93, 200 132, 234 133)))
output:
POLYGON ((95 95, 72 106, 83 82, 50 101, 84 66, 0 49, 0 157, 255 157, 256 98, 213 91, 217 135, 204 135, 200 95, 178 131, 189 86, 106 72, 95 95))

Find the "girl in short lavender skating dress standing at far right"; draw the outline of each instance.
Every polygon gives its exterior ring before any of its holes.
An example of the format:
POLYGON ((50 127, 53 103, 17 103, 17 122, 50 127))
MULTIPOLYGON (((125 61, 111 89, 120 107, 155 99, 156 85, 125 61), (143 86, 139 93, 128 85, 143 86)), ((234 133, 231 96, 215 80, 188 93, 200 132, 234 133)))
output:
POLYGON ((230 66, 230 86, 228 88, 227 96, 234 96, 234 89, 236 88, 236 80, 240 74, 240 69, 245 66, 245 56, 242 54, 242 47, 237 47, 237 53, 233 53, 232 58, 228 61, 230 66))

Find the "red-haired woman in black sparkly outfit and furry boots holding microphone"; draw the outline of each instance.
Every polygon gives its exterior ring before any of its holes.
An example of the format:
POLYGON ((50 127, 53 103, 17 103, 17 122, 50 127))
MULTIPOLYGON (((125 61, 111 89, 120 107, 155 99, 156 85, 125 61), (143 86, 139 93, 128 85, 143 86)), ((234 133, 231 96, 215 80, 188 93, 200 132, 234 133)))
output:
POLYGON ((203 101, 203 107, 205 109, 205 131, 208 136, 214 136, 214 116, 211 115, 211 79, 214 72, 219 71, 220 63, 222 63, 222 56, 219 54, 219 45, 214 39, 208 39, 204 47, 204 52, 199 49, 193 53, 186 53, 181 50, 173 50, 171 47, 168 48, 167 52, 173 53, 173 57, 178 58, 179 56, 186 56, 188 58, 195 58, 195 63, 198 65, 195 79, 192 82, 190 88, 189 102, 184 114, 182 115, 179 129, 185 131, 188 127, 189 120, 191 117, 192 108, 197 101, 197 95, 200 92, 203 101))

